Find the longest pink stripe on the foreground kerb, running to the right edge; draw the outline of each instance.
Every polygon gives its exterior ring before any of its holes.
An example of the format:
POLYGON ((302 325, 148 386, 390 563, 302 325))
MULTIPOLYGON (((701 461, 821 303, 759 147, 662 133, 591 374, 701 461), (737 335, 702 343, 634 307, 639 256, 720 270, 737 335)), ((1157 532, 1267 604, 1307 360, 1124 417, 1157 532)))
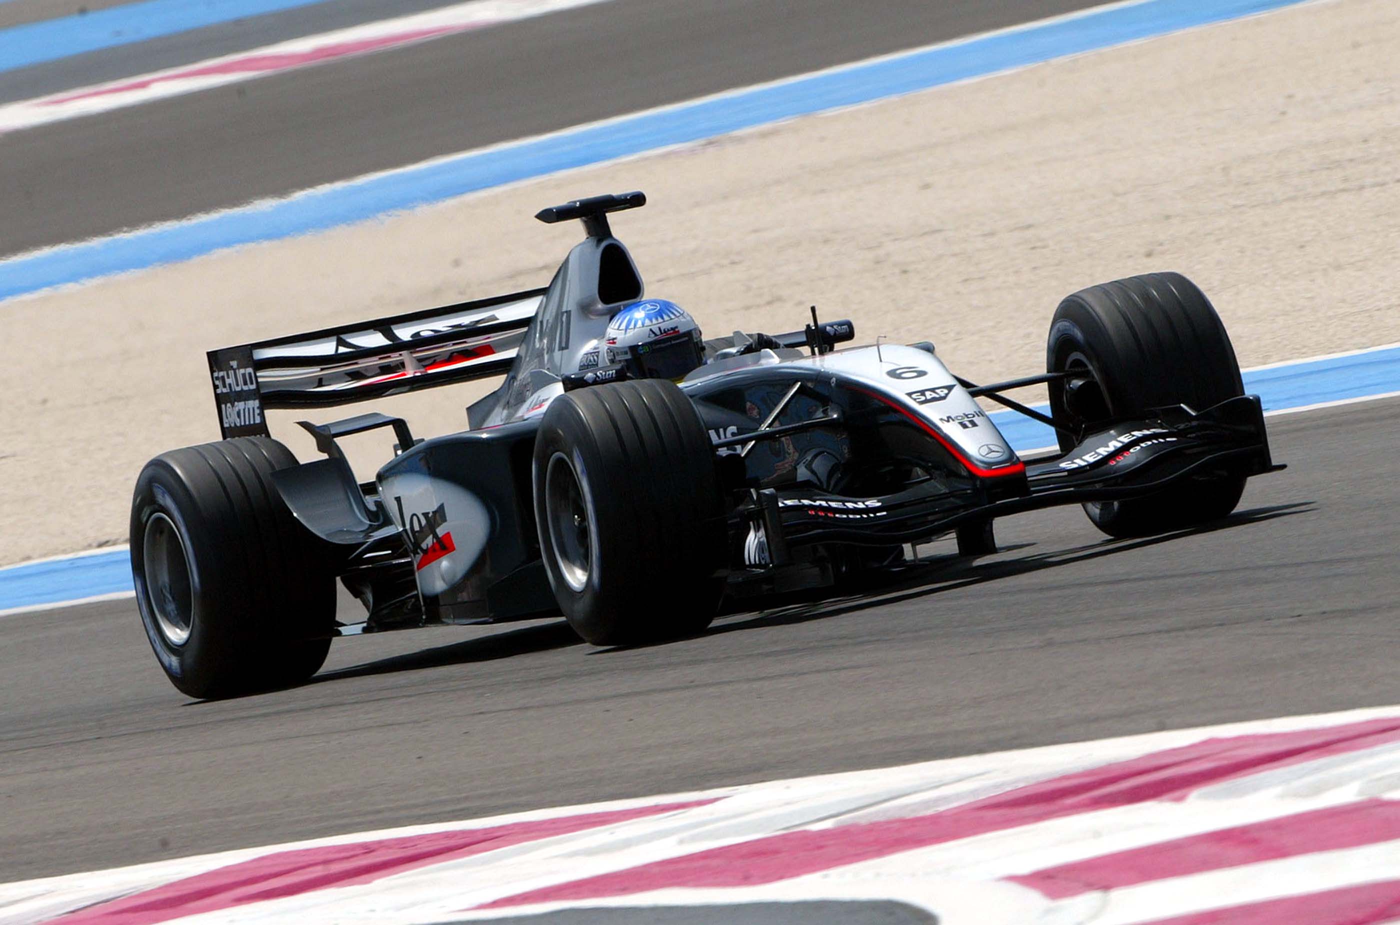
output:
POLYGON ((1400 739, 1400 718, 1207 739, 1078 771, 963 806, 872 823, 790 831, 504 897, 482 908, 591 900, 671 887, 774 883, 902 851, 1147 800, 1400 739))

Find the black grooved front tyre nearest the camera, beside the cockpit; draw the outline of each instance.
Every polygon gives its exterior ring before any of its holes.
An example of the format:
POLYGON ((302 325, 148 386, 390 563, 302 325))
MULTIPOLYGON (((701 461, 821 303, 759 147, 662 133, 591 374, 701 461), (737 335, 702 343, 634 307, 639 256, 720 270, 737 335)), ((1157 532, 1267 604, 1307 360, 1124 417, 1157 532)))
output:
POLYGON ((535 521, 554 599, 594 645, 700 633, 724 591, 714 448, 665 379, 598 385, 549 406, 535 521))

